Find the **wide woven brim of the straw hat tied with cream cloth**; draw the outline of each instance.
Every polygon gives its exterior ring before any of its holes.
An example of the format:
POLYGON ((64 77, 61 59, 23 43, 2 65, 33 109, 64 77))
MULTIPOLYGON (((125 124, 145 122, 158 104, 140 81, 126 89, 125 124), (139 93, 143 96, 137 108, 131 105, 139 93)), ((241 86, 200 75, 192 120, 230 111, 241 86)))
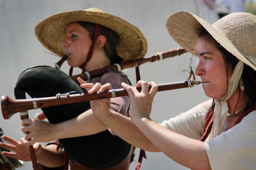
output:
POLYGON ((223 33, 214 27, 214 24, 211 25, 188 11, 176 12, 166 21, 166 28, 173 40, 193 55, 196 55, 196 43, 199 39, 198 29, 201 26, 203 26, 222 47, 228 50, 228 52, 256 70, 256 67, 246 59, 243 53, 241 53, 223 33))

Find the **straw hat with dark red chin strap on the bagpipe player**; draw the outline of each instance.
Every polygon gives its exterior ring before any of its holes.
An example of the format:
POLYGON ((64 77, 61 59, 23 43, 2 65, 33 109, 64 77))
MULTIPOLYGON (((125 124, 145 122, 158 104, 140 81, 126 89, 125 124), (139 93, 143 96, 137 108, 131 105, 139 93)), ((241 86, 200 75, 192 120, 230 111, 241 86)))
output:
POLYGON ((62 12, 48 17, 36 26, 36 37, 45 48, 62 56, 65 27, 75 21, 92 22, 114 30, 120 37, 116 51, 124 61, 142 58, 147 53, 147 40, 136 26, 97 8, 62 12))

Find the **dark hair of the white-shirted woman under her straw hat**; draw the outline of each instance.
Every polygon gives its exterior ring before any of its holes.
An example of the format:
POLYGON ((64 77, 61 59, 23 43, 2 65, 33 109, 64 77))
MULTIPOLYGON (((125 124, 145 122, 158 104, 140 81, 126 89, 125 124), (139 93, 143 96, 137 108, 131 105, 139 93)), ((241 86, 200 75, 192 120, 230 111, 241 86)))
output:
MULTIPOLYGON (((227 90, 228 90, 228 73, 233 73, 236 64, 238 63, 238 59, 228 52, 224 47, 220 45, 212 35, 206 31, 206 29, 202 26, 198 29, 199 37, 204 38, 205 41, 214 45, 214 47, 220 51, 223 56, 226 72, 227 72, 227 90)), ((256 106, 256 71, 253 70, 250 66, 244 64, 244 69, 241 75, 241 78, 244 82, 244 94, 247 98, 247 103, 243 112, 246 112, 250 108, 256 106)), ((240 98, 240 90, 239 97, 240 98)), ((236 103, 237 104, 237 103, 236 103)))

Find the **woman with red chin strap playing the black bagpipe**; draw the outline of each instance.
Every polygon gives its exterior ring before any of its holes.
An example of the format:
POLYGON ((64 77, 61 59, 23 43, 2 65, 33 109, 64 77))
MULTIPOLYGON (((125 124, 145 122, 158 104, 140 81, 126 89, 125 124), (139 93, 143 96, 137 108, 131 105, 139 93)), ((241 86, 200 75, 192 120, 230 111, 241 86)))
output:
MULTIPOLYGON (((122 61, 142 58, 147 52, 147 41, 137 27, 97 8, 55 14, 40 22, 36 26, 35 31, 37 38, 44 47, 60 56, 68 54, 68 64, 71 67, 81 68, 83 72, 101 69, 122 61)), ((78 79, 78 81, 84 83, 82 79, 78 79)), ((110 83, 116 89, 122 88, 122 82, 129 84, 127 76, 119 71, 106 73, 99 78, 93 78, 87 82, 92 84, 110 83)), ((128 116, 129 104, 129 96, 117 97, 111 100, 110 109, 115 113, 128 116)), ((90 108, 83 114, 67 122, 57 124, 44 121, 36 122, 35 120, 27 119, 22 124, 29 125, 36 123, 40 134, 54 132, 51 133, 51 139, 46 137, 44 142, 67 138, 68 136, 88 136, 106 130, 112 135, 115 135, 100 119, 93 115, 92 109, 90 108), (45 129, 46 127, 51 130, 45 129)), ((36 132, 36 134, 39 133, 36 132)), ((16 152, 3 152, 4 155, 24 161, 31 160, 28 148, 25 147, 27 141, 21 139, 21 143, 19 143, 6 136, 3 139, 13 145, 4 143, 0 145, 16 152)), ((37 139, 39 138, 33 137, 32 142, 36 142, 37 139)), ((56 141, 53 141, 47 144, 47 146, 41 146, 39 143, 36 143, 34 146, 37 160, 43 166, 60 167, 64 165, 63 152, 60 149, 56 152, 56 144, 56 141)), ((126 158, 110 167, 110 169, 128 170, 131 153, 132 147, 130 152, 127 153, 126 158)), ((69 167, 71 170, 77 168, 84 170, 93 169, 80 165, 72 157, 69 159, 69 167)), ((106 168, 106 170, 108 169, 106 168)))

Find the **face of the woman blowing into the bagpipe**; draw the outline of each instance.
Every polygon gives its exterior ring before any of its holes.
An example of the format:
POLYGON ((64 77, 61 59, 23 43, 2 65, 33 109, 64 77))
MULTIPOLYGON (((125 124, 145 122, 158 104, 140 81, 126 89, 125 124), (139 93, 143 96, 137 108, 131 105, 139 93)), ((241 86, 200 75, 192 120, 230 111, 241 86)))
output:
POLYGON ((68 24, 65 33, 62 46, 65 48, 64 53, 69 54, 68 65, 79 67, 85 62, 92 44, 89 32, 83 26, 73 22, 68 24))

